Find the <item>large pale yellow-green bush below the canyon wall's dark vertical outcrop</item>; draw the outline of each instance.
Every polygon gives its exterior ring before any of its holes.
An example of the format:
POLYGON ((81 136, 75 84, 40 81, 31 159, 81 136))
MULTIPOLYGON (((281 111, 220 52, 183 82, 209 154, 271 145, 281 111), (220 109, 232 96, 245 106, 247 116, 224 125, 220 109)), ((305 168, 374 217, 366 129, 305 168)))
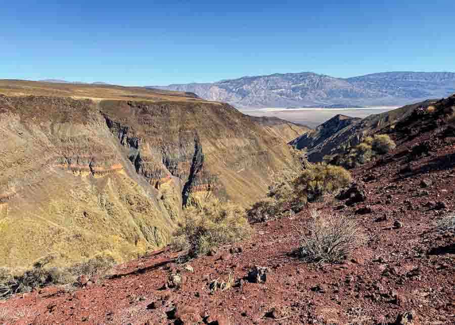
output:
POLYGON ((180 237, 180 240, 186 238, 191 256, 206 254, 219 245, 240 241, 251 233, 245 210, 216 198, 188 205, 184 210, 184 219, 174 237, 180 237))

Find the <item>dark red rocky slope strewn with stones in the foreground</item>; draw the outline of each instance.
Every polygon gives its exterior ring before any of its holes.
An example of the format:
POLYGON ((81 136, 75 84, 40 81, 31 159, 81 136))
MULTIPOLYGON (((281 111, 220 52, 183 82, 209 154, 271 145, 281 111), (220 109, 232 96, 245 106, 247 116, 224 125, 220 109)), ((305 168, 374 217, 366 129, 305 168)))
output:
MULTIPOLYGON (((348 200, 327 197, 298 214, 256 223, 250 240, 211 256, 182 263, 160 250, 118 266, 109 280, 83 281, 76 291, 17 295, 0 304, 4 318, 18 324, 452 324, 455 233, 436 224, 455 212, 455 97, 403 111, 394 128, 379 129, 397 147, 352 170, 348 192, 355 195, 348 200), (311 210, 353 216, 366 244, 341 263, 300 260, 294 252, 311 210)), ((343 126, 343 118, 337 123, 343 126)))

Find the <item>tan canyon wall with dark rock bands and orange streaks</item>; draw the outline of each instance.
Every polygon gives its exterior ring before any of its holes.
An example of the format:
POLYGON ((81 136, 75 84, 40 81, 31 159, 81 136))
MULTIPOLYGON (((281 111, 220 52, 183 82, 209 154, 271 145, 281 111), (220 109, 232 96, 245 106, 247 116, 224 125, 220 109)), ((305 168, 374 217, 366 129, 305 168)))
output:
POLYGON ((203 101, 1 96, 0 265, 134 257, 206 190, 246 206, 293 165, 281 125, 203 101))

